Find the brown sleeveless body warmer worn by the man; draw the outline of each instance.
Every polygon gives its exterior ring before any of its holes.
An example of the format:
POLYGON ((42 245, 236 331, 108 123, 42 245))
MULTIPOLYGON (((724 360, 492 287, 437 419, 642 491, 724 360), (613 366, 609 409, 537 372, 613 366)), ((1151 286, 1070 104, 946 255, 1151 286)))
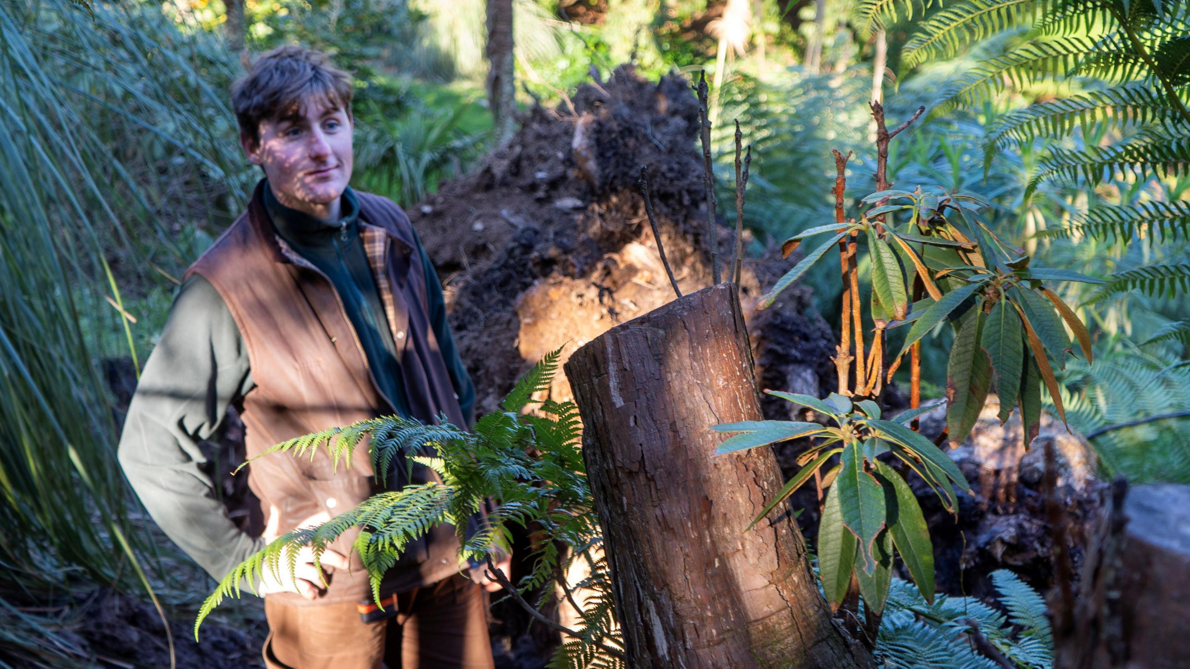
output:
MULTIPOLYGON (((331 281, 276 236, 262 186, 248 212, 187 271, 219 292, 248 349, 256 383, 242 413, 250 459, 287 439, 390 413, 393 405, 377 387, 331 281)), ((415 415, 445 414, 465 425, 428 323, 425 273, 409 220, 384 198, 357 195, 359 235, 397 346, 401 381, 411 404, 427 405, 415 415)), ((383 489, 367 454, 355 455, 350 468, 340 463, 337 469, 325 449, 313 458, 274 454, 253 461, 249 484, 262 502, 265 539, 350 511, 383 489)), ((357 533, 332 548, 350 555, 357 533)), ((456 574, 457 550, 453 527, 437 526, 409 545, 383 590, 405 592, 456 574)), ((368 574, 352 555, 351 571, 332 575, 326 594, 313 602, 292 593, 269 596, 287 604, 359 601, 369 596, 368 574)))

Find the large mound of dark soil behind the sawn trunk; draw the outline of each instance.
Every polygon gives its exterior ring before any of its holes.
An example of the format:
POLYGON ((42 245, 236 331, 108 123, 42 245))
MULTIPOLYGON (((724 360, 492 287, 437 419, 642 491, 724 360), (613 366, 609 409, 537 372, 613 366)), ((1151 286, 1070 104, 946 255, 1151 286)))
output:
MULTIPOLYGON (((495 411, 545 354, 563 355, 674 299, 638 189, 647 165, 665 252, 683 293, 712 283, 699 107, 689 82, 647 81, 628 65, 581 86, 570 105, 536 107, 472 173, 409 212, 446 285, 451 327, 495 411)), ((734 231, 715 226, 724 276, 734 231)), ((790 267, 776 252, 744 263, 745 312, 790 267)), ((765 388, 819 393, 834 338, 795 287, 751 318, 765 388)), ((559 375, 550 394, 570 399, 559 375)), ((788 417, 779 404, 769 407, 788 417)))

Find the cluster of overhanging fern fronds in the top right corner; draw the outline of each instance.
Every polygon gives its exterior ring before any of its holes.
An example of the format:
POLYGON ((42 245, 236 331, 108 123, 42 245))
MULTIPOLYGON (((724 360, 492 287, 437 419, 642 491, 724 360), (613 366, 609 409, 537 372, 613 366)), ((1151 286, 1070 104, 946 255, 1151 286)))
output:
MULTIPOLYGON (((869 20, 888 8, 872 5, 869 20)), ((1086 92, 1045 100, 1002 115, 988 130, 990 160, 1010 144, 1064 139, 1081 131, 1084 142, 1056 143, 1036 165, 1028 200, 1047 181, 1094 187, 1116 179, 1178 177, 1190 173, 1190 14, 1178 2, 1141 0, 964 0, 919 26, 902 62, 913 67, 948 57, 994 32, 1028 27, 1022 44, 972 69, 944 89, 935 113, 985 100, 1006 83, 1041 81, 1085 86, 1086 92), (1094 144, 1102 130, 1119 140, 1094 144)), ((1054 236, 1086 235, 1132 240, 1153 233, 1177 238, 1185 231, 1184 202, 1152 201, 1091 208, 1054 236)), ((1190 279, 1190 265, 1166 263, 1113 276, 1104 295, 1139 289, 1172 290, 1190 279)), ((1042 369, 1042 371, 1045 371, 1042 369)))

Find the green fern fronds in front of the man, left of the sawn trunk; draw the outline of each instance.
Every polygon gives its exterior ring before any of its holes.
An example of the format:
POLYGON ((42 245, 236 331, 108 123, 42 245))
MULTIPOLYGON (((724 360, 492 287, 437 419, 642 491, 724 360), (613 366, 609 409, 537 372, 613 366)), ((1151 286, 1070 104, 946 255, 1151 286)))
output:
MULTIPOLYGON (((578 611, 582 625, 553 658, 553 667, 615 667, 622 648, 612 609, 610 582, 599 519, 595 515, 582 454, 578 450, 578 411, 571 402, 546 400, 534 413, 525 413, 533 393, 549 388, 558 368, 560 349, 551 352, 516 383, 497 413, 490 413, 466 432, 441 421, 421 425, 396 417, 377 418, 290 439, 273 446, 262 457, 289 454, 314 457, 325 450, 338 465, 350 465, 352 452, 368 439, 369 457, 377 480, 403 455, 425 464, 438 480, 406 486, 374 495, 355 509, 313 529, 294 530, 251 556, 207 598, 195 620, 202 620, 227 596, 238 598, 265 570, 280 574, 295 568, 298 550, 311 546, 315 563, 327 545, 349 529, 361 530, 353 549, 368 570, 374 594, 384 573, 395 564, 407 543, 432 525, 447 523, 459 534, 459 568, 482 564, 488 556, 511 551, 509 525, 533 524, 536 542, 528 563, 532 570, 518 584, 520 593, 540 590, 552 596, 556 587, 568 588, 565 574, 576 562, 585 562, 590 576, 580 587, 585 605, 578 611), (481 530, 468 537, 468 520, 489 501, 481 530), (558 545, 565 551, 559 551, 558 545)), ((255 592, 255 590, 253 590, 255 592)), ((538 605, 540 606, 541 602, 538 605)))

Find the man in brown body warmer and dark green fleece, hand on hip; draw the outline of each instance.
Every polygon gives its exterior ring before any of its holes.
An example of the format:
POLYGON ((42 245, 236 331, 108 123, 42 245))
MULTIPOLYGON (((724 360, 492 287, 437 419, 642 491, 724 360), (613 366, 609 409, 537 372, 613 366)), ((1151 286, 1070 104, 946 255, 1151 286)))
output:
MULTIPOLYGON (((217 580, 294 527, 434 476, 416 467, 409 481, 406 467, 393 467, 377 486, 368 457, 351 468, 325 451, 262 457, 249 468, 265 524, 253 538, 227 518, 199 467, 198 443, 230 404, 242 406, 250 458, 377 415, 472 420, 475 389, 416 233, 395 204, 347 187, 351 96, 345 73, 296 46, 263 55, 236 83, 240 143, 265 179, 186 273, 129 407, 124 471, 157 524, 217 580)), ((351 551, 355 536, 322 556, 328 587, 308 549, 295 577, 257 584, 268 667, 493 667, 483 593, 459 573, 453 527, 434 527, 402 554, 381 593, 394 617, 378 623, 365 621, 384 613, 351 551)))

